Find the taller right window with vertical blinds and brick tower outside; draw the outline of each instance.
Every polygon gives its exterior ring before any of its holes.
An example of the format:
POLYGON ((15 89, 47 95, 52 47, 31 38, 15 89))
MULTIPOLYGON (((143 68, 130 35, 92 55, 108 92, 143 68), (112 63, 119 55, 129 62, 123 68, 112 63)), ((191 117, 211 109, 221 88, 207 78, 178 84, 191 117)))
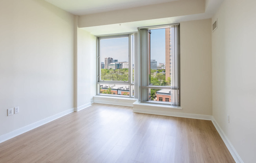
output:
POLYGON ((139 49, 140 101, 180 106, 179 25, 139 29, 139 49))

